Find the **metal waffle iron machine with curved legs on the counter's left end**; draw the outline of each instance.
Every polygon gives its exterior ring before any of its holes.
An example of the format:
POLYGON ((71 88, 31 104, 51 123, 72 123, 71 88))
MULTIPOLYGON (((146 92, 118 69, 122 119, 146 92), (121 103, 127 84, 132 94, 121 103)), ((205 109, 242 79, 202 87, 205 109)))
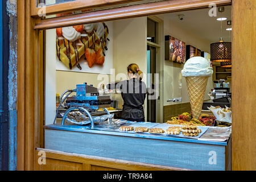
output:
POLYGON ((67 110, 63 114, 61 125, 64 125, 64 121, 65 119, 67 119, 67 121, 75 124, 79 124, 79 125, 81 125, 81 123, 84 123, 84 124, 90 123, 91 129, 94 129, 94 122, 109 119, 110 126, 111 126, 113 114, 110 114, 109 111, 106 109, 106 107, 110 107, 111 102, 112 101, 110 100, 110 96, 99 96, 98 89, 94 88, 93 85, 88 85, 87 83, 76 85, 76 89, 66 90, 63 94, 61 94, 60 105, 56 111, 55 121, 56 121, 57 114, 59 112, 60 107, 63 107, 64 109, 67 109, 67 110), (73 92, 76 92, 76 96, 69 97, 69 95, 73 92), (63 105, 63 102, 65 100, 66 102, 63 105), (92 114, 96 113, 98 109, 104 109, 107 115, 93 117, 92 114), (67 116, 68 114, 71 114, 73 111, 79 111, 79 112, 81 111, 82 113, 85 113, 87 117, 85 117, 84 114, 81 114, 81 116, 85 118, 85 122, 79 123, 79 122, 73 121, 72 119, 69 119, 67 116))

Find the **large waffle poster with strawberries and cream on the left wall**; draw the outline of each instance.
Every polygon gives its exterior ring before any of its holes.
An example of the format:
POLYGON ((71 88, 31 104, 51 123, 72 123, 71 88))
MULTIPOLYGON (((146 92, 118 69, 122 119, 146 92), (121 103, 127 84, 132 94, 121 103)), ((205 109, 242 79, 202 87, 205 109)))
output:
POLYGON ((110 74, 112 22, 56 28, 56 70, 110 74))

